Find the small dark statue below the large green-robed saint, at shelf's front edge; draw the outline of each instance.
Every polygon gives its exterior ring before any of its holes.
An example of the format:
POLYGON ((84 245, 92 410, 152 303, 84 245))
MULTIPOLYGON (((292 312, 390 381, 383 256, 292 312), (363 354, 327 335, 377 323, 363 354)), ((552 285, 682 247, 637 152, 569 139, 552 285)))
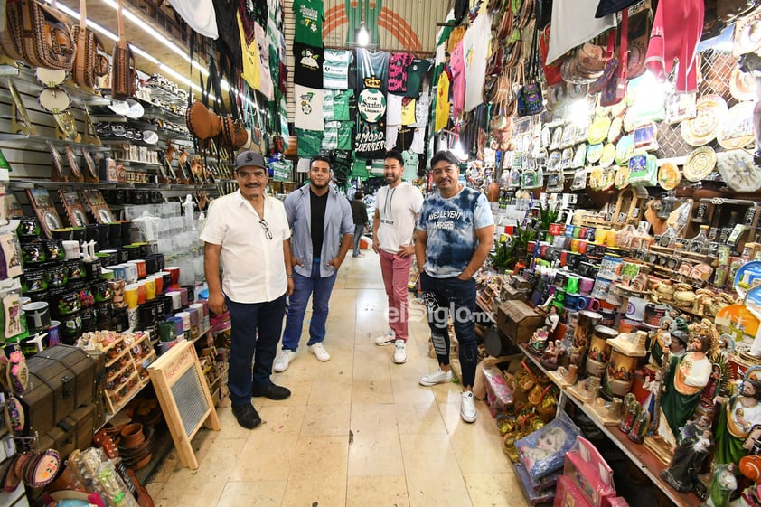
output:
POLYGON ((710 419, 703 416, 680 428, 679 444, 674 448, 672 463, 661 472, 661 478, 681 493, 691 491, 696 475, 709 455, 710 419))

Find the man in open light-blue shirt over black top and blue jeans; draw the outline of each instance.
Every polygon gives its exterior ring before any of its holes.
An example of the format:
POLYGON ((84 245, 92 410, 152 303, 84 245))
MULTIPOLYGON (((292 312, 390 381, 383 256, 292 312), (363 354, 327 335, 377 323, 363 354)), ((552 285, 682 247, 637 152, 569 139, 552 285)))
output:
POLYGON ((315 155, 309 163, 309 183, 291 192, 283 202, 291 236, 294 291, 289 297, 283 350, 274 371, 286 371, 296 357, 304 314, 312 296, 312 320, 306 345, 320 361, 330 361, 324 349, 328 301, 335 275, 352 248, 354 220, 346 197, 330 186, 330 159, 315 155))

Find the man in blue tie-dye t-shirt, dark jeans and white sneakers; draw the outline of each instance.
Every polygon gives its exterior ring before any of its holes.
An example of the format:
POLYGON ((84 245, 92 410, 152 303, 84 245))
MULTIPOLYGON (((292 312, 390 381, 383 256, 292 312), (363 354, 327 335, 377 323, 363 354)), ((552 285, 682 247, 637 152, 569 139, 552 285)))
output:
POLYGON ((474 275, 492 249, 494 218, 486 196, 458 182, 459 161, 452 152, 434 155, 431 172, 438 192, 428 196, 420 210, 415 256, 439 367, 421 377, 419 383, 433 386, 452 380, 448 327, 451 316, 463 370, 460 417, 474 422, 477 412, 473 383, 478 363, 474 275))

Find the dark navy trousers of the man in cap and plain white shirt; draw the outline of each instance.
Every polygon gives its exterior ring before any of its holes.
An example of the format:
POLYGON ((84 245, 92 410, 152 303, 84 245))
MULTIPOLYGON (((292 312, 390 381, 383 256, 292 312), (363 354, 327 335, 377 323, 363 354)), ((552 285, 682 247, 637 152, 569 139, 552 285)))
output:
POLYGON ((286 295, 266 303, 236 303, 225 297, 225 303, 230 310, 230 402, 242 405, 250 403, 253 384, 272 383, 269 377, 283 330, 286 295))

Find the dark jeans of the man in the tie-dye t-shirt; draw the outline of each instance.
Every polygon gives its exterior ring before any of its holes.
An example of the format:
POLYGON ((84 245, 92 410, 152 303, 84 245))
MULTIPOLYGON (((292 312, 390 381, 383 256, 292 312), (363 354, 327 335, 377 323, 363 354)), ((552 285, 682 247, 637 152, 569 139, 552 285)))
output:
POLYGON ((478 343, 475 339, 475 279, 434 278, 420 273, 420 290, 426 302, 428 327, 439 364, 449 364, 449 318, 455 323, 455 336, 460 348, 463 387, 473 387, 478 364, 478 343))

